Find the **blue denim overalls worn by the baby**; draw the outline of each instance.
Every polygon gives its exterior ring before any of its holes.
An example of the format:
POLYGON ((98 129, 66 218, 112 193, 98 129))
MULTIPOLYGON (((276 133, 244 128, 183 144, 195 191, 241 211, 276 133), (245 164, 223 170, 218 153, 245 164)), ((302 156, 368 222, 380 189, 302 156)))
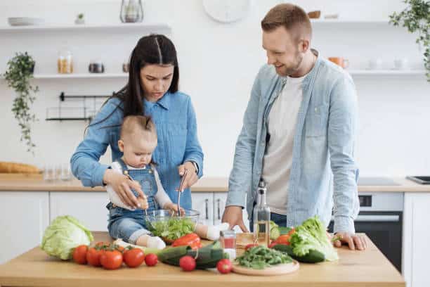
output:
MULTIPOLYGON (((155 201, 155 194, 157 194, 157 181, 155 181, 154 169, 151 165, 146 165, 139 170, 128 170, 126 164, 119 158, 117 162, 122 167, 122 172, 128 172, 130 177, 141 184, 143 193, 148 198, 148 210, 158 210, 158 204, 155 201)), ((135 196, 138 193, 132 189, 135 196)), ((150 234, 145 227, 145 210, 126 210, 119 208, 112 203, 108 203, 106 208, 109 210, 109 224, 107 229, 112 238, 122 238, 122 240, 136 244, 136 240, 143 234, 150 234)))

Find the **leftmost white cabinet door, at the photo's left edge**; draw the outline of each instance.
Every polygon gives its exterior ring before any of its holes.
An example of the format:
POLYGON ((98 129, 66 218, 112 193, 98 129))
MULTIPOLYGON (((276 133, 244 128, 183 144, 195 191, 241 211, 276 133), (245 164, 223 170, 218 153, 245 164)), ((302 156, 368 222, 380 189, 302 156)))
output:
POLYGON ((49 223, 48 192, 0 192, 0 264, 41 243, 49 223))

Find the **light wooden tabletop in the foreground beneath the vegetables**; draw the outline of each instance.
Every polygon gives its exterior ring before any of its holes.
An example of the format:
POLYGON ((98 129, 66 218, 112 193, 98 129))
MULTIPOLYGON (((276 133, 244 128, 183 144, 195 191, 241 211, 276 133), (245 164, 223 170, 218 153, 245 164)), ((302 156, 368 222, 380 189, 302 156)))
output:
MULTIPOLYGON (((110 241, 105 232, 93 233, 96 241, 110 241)), ((105 270, 49 257, 39 247, 0 265, 0 286, 93 286, 93 287, 287 287, 287 286, 405 286, 403 277, 370 242, 365 251, 338 248, 338 262, 300 264, 292 274, 280 276, 245 276, 195 270, 159 263, 136 269, 122 267, 105 270)))

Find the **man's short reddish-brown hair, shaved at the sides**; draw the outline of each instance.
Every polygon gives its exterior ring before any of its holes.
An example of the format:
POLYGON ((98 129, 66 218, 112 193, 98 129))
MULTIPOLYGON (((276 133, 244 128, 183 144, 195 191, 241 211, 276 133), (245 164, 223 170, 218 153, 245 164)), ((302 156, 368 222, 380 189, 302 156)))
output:
POLYGON ((261 28, 265 32, 271 32, 278 27, 285 27, 297 40, 312 38, 312 25, 308 14, 297 5, 279 4, 264 16, 261 20, 261 28))

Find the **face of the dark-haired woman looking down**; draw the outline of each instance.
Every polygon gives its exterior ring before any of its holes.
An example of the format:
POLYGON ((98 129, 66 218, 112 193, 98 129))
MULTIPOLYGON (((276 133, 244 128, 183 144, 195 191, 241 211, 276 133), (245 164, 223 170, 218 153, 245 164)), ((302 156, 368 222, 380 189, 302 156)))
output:
POLYGON ((166 94, 173 79, 174 65, 145 65, 141 69, 143 96, 156 102, 166 94))

